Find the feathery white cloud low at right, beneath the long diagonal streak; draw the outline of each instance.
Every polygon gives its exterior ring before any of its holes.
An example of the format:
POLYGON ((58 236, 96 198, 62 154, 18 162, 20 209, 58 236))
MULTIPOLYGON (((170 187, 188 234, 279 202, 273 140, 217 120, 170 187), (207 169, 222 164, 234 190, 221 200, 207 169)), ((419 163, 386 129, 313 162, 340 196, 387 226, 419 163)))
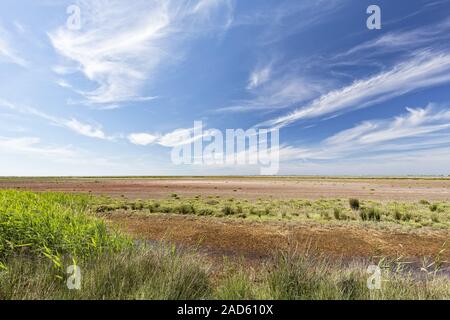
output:
POLYGON ((433 104, 407 108, 392 119, 364 121, 313 147, 285 147, 284 160, 375 159, 450 145, 450 109, 433 104))

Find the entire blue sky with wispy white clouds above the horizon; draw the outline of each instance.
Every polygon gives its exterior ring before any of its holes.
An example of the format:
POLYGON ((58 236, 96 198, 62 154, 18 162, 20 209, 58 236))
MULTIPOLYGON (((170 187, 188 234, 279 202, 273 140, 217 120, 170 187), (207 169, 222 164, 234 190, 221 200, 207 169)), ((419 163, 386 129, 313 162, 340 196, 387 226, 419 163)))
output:
POLYGON ((280 130, 280 174, 450 174, 450 0, 3 0, 0 175, 176 166, 173 137, 280 130), (80 29, 67 27, 70 5, 80 29), (381 30, 366 27, 369 5, 381 30))

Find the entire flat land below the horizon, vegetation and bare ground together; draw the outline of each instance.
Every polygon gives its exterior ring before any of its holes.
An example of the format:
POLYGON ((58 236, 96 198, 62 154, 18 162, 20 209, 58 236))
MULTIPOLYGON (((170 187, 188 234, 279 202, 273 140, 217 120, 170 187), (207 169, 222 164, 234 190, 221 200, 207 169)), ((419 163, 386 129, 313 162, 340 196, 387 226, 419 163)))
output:
POLYGON ((423 177, 0 178, 0 300, 449 299, 449 191, 423 177))

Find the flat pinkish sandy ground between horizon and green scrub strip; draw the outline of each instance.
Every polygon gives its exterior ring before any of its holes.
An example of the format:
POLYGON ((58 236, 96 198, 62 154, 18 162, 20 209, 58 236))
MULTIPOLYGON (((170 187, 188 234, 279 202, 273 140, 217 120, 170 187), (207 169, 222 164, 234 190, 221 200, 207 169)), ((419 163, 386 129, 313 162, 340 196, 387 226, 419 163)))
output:
POLYGON ((0 179, 0 189, 92 192, 128 198, 220 195, 235 198, 450 200, 450 179, 161 178, 0 179))

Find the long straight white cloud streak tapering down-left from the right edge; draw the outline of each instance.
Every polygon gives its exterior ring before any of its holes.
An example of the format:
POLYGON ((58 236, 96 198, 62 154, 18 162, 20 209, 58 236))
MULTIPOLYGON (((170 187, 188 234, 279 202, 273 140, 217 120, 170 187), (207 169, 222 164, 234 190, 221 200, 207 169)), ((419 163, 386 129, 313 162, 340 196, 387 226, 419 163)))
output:
POLYGON ((450 82, 450 54, 425 51, 389 71, 331 91, 309 105, 267 121, 283 127, 295 121, 365 108, 408 92, 450 82))

